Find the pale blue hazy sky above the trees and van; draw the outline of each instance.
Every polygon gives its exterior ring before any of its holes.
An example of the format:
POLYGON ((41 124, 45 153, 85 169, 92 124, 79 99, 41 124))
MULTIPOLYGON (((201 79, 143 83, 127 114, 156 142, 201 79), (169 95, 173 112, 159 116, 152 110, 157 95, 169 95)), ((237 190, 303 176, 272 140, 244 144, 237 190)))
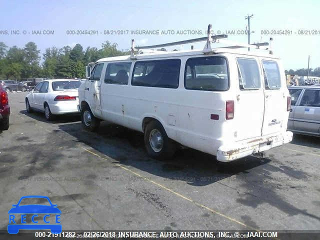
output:
MULTIPOLYGON (((34 41, 41 56, 47 47, 100 48, 105 40, 129 49, 132 38, 136 45, 152 45, 205 36, 211 24, 214 33, 247 43, 244 18, 253 14, 251 43, 272 37, 285 69, 306 68, 308 55, 315 68, 320 66, 319 9, 318 0, 0 0, 0 41, 18 47, 34 41), (79 34, 84 30, 96 34, 79 34)), ((203 48, 204 42, 193 45, 203 48)))

